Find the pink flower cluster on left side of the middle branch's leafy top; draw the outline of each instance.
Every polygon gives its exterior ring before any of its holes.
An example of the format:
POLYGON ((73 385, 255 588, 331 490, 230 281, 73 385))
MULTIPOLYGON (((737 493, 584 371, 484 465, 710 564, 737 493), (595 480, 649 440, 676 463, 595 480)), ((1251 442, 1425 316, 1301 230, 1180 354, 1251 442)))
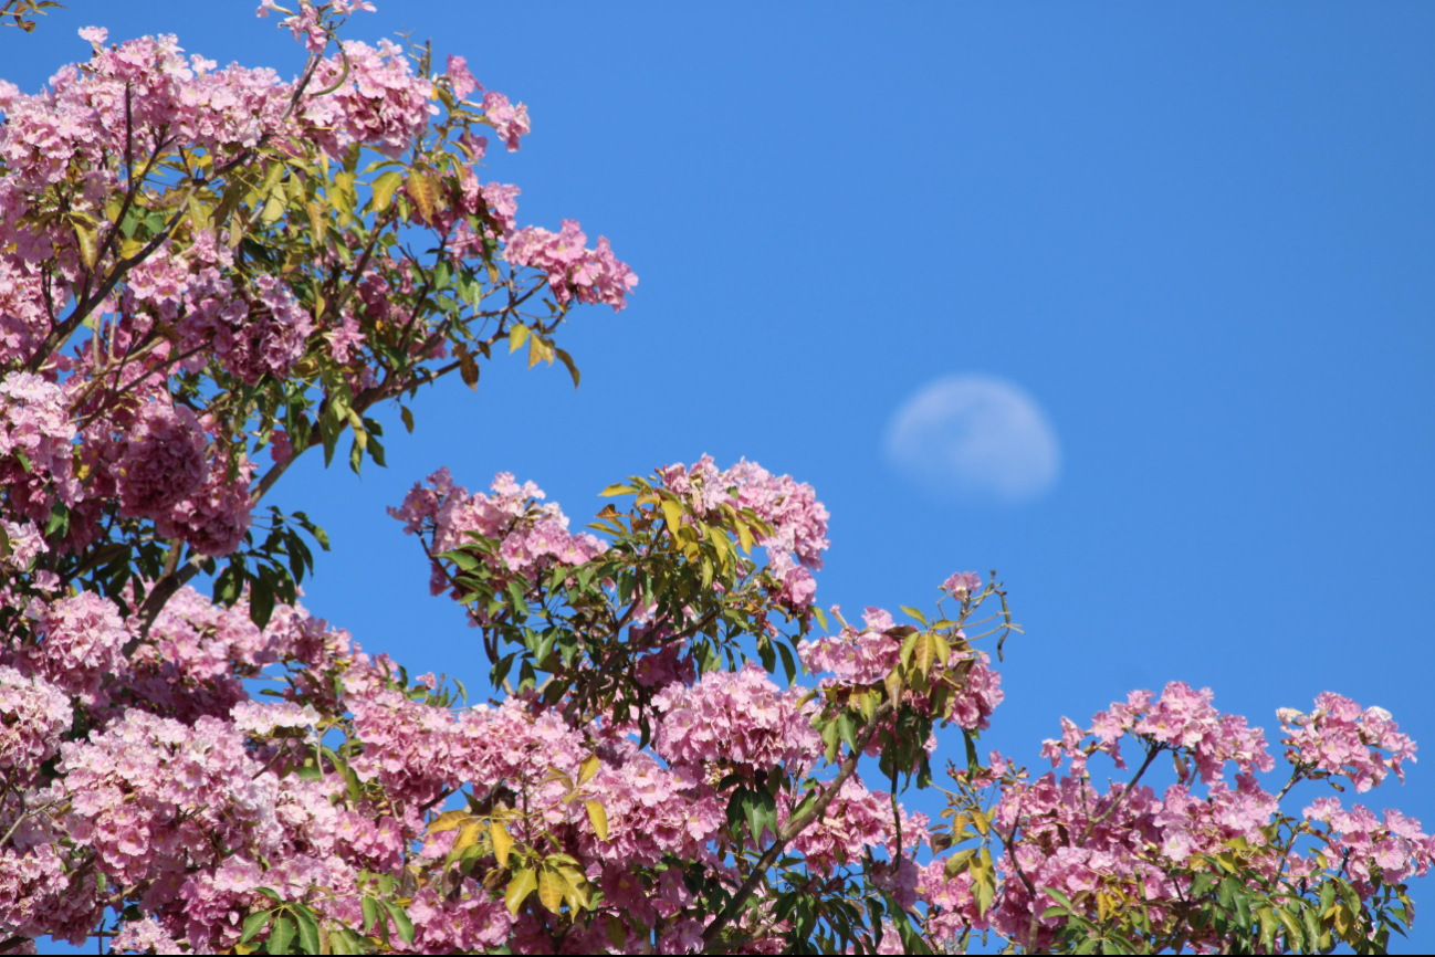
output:
MULTIPOLYGON (((499 539, 498 557, 509 571, 541 570, 552 564, 581 565, 607 550, 607 542, 588 532, 571 534, 568 517, 555 504, 538 505, 545 498, 532 482, 518 485, 509 472, 499 472, 492 495, 469 495, 453 484, 448 468, 416 482, 399 508, 389 515, 403 522, 405 534, 432 532, 432 554, 465 545, 466 532, 499 539)), ((433 594, 448 588, 442 567, 433 562, 433 594)))

